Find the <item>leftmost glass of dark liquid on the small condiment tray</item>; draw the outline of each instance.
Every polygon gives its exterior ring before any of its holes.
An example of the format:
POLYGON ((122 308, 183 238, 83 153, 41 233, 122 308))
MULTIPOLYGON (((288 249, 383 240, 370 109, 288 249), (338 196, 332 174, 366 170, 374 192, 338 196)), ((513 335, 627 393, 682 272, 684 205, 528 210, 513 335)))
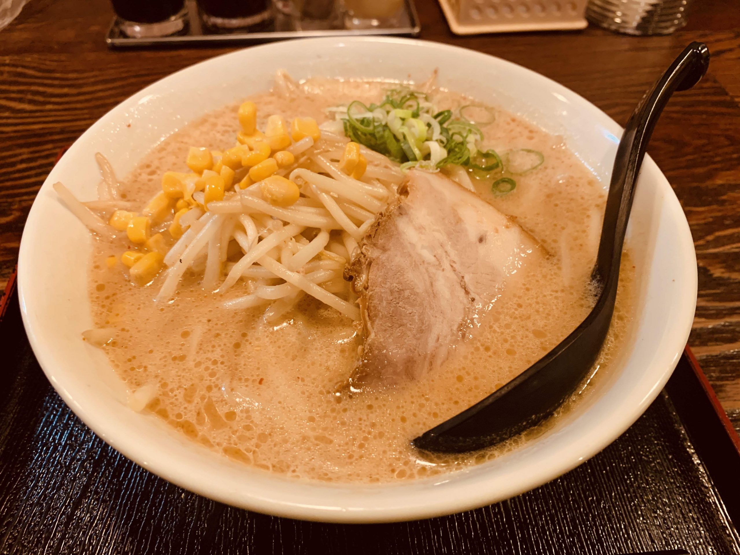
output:
POLYGON ((184 0, 111 0, 121 31, 130 37, 179 33, 186 26, 184 0))

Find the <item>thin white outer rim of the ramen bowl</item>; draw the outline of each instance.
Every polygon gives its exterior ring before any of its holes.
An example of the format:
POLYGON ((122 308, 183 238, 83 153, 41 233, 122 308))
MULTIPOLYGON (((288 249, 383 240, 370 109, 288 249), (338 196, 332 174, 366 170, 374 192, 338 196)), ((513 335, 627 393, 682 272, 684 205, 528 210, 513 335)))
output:
MULTIPOLYGON (((279 41, 259 45, 256 47, 236 50, 234 52, 215 56, 214 58, 208 58, 204 61, 198 62, 198 64, 193 64, 189 67, 185 67, 184 69, 179 70, 178 72, 169 74, 166 77, 155 81, 144 89, 139 90, 134 95, 129 96, 129 98, 117 104, 100 119, 98 119, 95 124, 92 124, 92 126, 90 126, 90 128, 88 128, 80 136, 80 138, 75 141, 75 144, 81 142, 81 140, 84 138, 89 138, 90 136, 95 135, 95 133, 97 133, 103 126, 103 122, 106 121, 108 118, 114 117, 118 112, 123 112, 124 110, 127 110, 127 107, 132 106, 144 96, 152 94, 153 92, 158 92, 158 87, 161 87, 161 84, 167 79, 172 78, 173 75, 181 75, 188 72, 197 73, 198 68, 200 68, 203 64, 211 64, 214 60, 230 56, 238 57, 240 55, 243 55, 243 52, 245 50, 249 50, 250 53, 255 53, 259 50, 269 52, 269 50, 275 48, 276 45, 285 44, 286 42, 292 43, 293 46, 296 48, 300 47, 301 44, 307 43, 326 44, 326 46, 335 45, 339 42, 360 44, 385 43, 397 44, 400 48, 412 44, 417 47, 421 46, 424 48, 437 50, 454 50, 456 52, 459 52, 461 55, 465 55, 466 57, 476 58, 482 61, 482 63, 491 63, 491 60, 495 60, 497 64, 502 64, 505 67, 508 66, 511 70, 521 72, 525 75, 529 75, 531 78, 541 80, 543 86, 550 87, 551 90, 554 90, 559 94, 565 95, 565 97, 576 101, 579 110, 591 110, 594 113, 597 112, 599 114, 600 121, 602 121, 603 124, 607 125, 607 127, 609 127, 610 131, 613 132, 614 135, 619 136, 623 131, 622 127, 616 124, 616 121, 613 121, 613 119, 606 115, 605 112, 599 110, 599 108, 591 104, 591 102, 589 102, 585 98, 582 98, 582 96, 578 95, 576 92, 569 90, 567 87, 558 84, 556 81, 553 81, 550 78, 545 77, 544 75, 536 73, 532 70, 528 70, 527 68, 519 66, 518 64, 514 64, 511 61, 506 61, 502 58, 497 58, 486 53, 477 52, 475 50, 468 50, 466 48, 457 47, 449 44, 442 44, 431 41, 420 41, 418 39, 409 38, 373 36, 303 38, 295 39, 292 41, 279 41)), ((73 152, 73 147, 70 147, 70 150, 68 152, 73 152)), ((65 153, 65 156, 67 155, 68 154, 65 153)), ((673 189, 671 189, 670 185, 668 184, 665 176, 658 169, 652 158, 647 155, 645 156, 642 172, 650 173, 650 175, 656 178, 656 189, 660 189, 660 192, 662 192, 663 194, 662 206, 665 206, 665 208, 673 215, 673 218, 676 220, 676 225, 679 227, 679 234, 676 236, 676 242, 682 244, 684 249, 687 249, 687 252, 685 252, 684 254, 686 254, 690 259, 693 259, 694 262, 694 272, 692 275, 687 276, 687 283, 685 284, 683 289, 684 293, 690 294, 690 296, 693 297, 693 301, 689 303, 690 306, 686 307, 684 320, 676 321, 673 323, 672 331, 674 332, 673 337, 675 337, 675 339, 671 342, 671 344, 675 346, 675 349, 671 349, 670 351, 661 353, 659 359, 657 361, 653 361, 652 366, 658 366, 660 369, 662 369, 659 374, 656 372, 656 380, 653 386, 648 391, 643 391, 642 397, 639 399, 639 402, 631 406, 628 411, 618 411, 618 414, 613 414, 613 418, 610 419, 610 427, 608 428, 608 431, 602 431, 598 435, 598 437, 591 434, 591 436, 585 438, 585 440, 579 444, 579 448, 574 449, 568 454, 568 456, 560 457, 556 461, 555 465, 550 465, 548 466, 548 468, 538 469, 538 471, 529 474, 527 477, 523 477, 521 480, 515 483, 510 483, 504 488, 496 488, 495 491, 491 491, 490 485, 488 486, 488 488, 486 488, 485 482, 468 483, 463 484, 462 487, 458 485, 457 488, 454 488, 450 485, 450 482, 454 482, 455 480, 442 480, 435 483, 434 488, 430 488, 431 494, 433 494, 431 495, 431 497, 420 496, 420 499, 405 499, 402 504, 393 506, 388 506, 387 504, 376 504, 372 506, 371 504, 370 506, 360 505, 356 507, 347 506, 337 508, 335 506, 309 503, 306 502, 305 497, 301 498, 300 496, 291 497, 290 495, 283 495, 274 496, 271 498, 269 496, 266 497, 260 495, 259 493, 255 494, 250 491, 233 491, 228 487, 216 488, 212 483, 206 484, 205 482, 199 481, 197 476, 192 475, 192 470, 187 471, 187 468, 177 468, 177 465, 175 465, 175 468, 172 468, 169 465, 172 461, 168 462, 167 460, 171 457, 167 457, 166 451, 161 452, 156 457, 152 457, 150 455, 142 453, 141 449, 138 448, 138 445, 135 445, 135 442, 132 442, 132 440, 125 437, 125 434, 117 434, 117 430, 120 428, 120 425, 108 422, 105 419, 101 419, 95 414, 92 414, 90 411, 87 411, 84 406, 81 406, 77 402, 77 400, 73 399, 72 392, 65 388, 63 383, 59 383, 57 380, 52 379, 53 369, 57 364, 55 361, 55 355, 52 351, 50 351, 50 349, 46 349, 44 347, 43 339, 38 334, 29 316, 30 311, 34 308, 34 304, 33 287, 30 285, 28 278, 29 272, 27 272, 27 267, 33 260, 33 252, 30 250, 30 240, 28 239, 28 237, 32 235, 32 230, 35 222, 39 218, 38 212, 40 209, 38 208, 38 206, 39 198, 41 198, 41 191, 37 195, 36 199, 34 200, 33 206, 30 209, 27 223, 24 226, 23 236, 21 238, 18 273, 18 289, 19 300, 21 304, 21 315, 30 345, 34 351, 34 354, 36 354, 39 365, 44 370, 44 373, 47 374, 47 377, 50 379, 53 387, 56 389, 58 394, 62 397, 62 399, 64 399, 65 403, 67 403, 67 406, 70 406, 75 414, 77 414, 77 416, 80 417, 80 419, 87 426, 89 426, 92 431, 94 431, 95 434, 98 435, 98 437, 101 437, 106 443, 112 446, 112 448, 120 451, 122 454, 124 454, 124 456, 143 466, 144 468, 147 468, 147 470, 152 471, 159 477, 163 477, 165 480, 169 480, 170 482, 186 488, 189 491, 194 491, 195 493, 201 494, 204 497, 216 499, 229 505, 248 508, 249 510, 258 511, 261 513, 274 514, 281 517, 307 519, 323 522, 396 522, 400 520, 436 517, 442 514, 451 514, 458 511, 465 511, 471 508, 488 505, 492 502, 498 502, 500 500, 508 499, 509 497, 514 497, 515 495, 522 494, 523 492, 529 491, 530 489, 542 485, 549 480, 553 480, 555 477, 564 474, 567 471, 570 471, 572 468, 575 468, 577 465, 585 462, 585 460, 593 457, 594 454, 598 453, 607 445, 612 443, 613 440, 616 440, 616 437, 619 437, 620 434, 622 434, 630 425, 635 422, 635 420, 637 420, 637 418, 639 418, 640 415, 642 415, 642 413, 647 409, 650 403, 652 403, 655 397, 659 394, 662 387, 665 385, 665 382, 670 377, 670 374, 673 372, 676 364, 678 363, 679 357, 683 351, 683 347, 686 343, 688 334, 691 329, 691 324, 693 322, 693 312, 696 306, 696 253, 693 249, 693 240, 691 238, 690 229, 687 220, 682 212, 682 208, 680 206, 678 198, 676 198, 676 195, 673 192, 673 189), (688 252, 688 249, 690 249, 690 252, 688 252), (454 495, 451 495, 451 493, 454 493, 454 495), (276 497, 281 498, 276 499, 276 497)), ((51 186, 50 181, 50 178, 47 177, 42 187, 44 189, 49 188, 51 186)), ((445 475, 445 477, 453 476, 454 474, 445 475)), ((256 480, 262 480, 263 482, 275 480, 273 477, 269 477, 263 474, 255 474, 255 477, 256 480)), ((416 480, 414 482, 418 484, 422 481, 423 480, 416 480)), ((317 482, 303 483, 310 486, 308 490, 318 491, 321 488, 337 488, 337 486, 328 486, 324 485, 323 483, 317 482)), ((393 485, 391 487, 403 488, 404 486, 393 485)), ((351 484, 347 485, 347 488, 351 489, 351 484)), ((366 490, 366 488, 356 489, 357 491, 366 490)), ((366 497, 366 502, 369 502, 367 501, 367 499, 373 498, 373 494, 369 495, 370 497, 366 497)), ((374 497, 377 500, 378 496, 375 495, 374 497)))

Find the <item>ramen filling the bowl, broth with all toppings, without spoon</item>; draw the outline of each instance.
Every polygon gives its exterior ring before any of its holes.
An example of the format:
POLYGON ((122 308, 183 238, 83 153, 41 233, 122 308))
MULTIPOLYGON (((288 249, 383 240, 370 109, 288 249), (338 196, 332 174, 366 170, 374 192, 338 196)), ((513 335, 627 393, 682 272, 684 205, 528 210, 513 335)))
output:
MULTIPOLYGON (((84 337, 133 409, 265 471, 388 482, 496 457, 410 441, 593 306, 602 184, 561 137, 433 81, 279 74, 122 181, 98 161, 98 201, 57 187, 96 235, 84 337)), ((622 268, 597 376, 628 337, 622 268)))

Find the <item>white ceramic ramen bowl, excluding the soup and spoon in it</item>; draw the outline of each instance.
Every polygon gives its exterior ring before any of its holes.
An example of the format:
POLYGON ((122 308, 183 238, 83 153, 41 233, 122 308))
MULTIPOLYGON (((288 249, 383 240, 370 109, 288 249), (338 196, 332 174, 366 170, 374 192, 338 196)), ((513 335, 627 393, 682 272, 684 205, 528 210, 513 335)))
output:
MULTIPOLYGON (((609 377, 547 433, 484 465, 403 484, 297 482, 240 465, 186 440, 125 402, 104 354, 81 340, 92 327, 87 297, 90 236, 58 201, 62 181, 95 198, 93 155, 126 175, 146 152, 210 110, 266 90, 275 70, 311 76, 423 81, 518 112, 568 146, 605 184, 622 132, 579 95, 536 73, 471 50, 399 38, 312 38, 251 47, 188 67, 113 108, 50 173, 21 242, 21 311, 38 362, 75 414, 103 440, 159 476, 212 499, 263 513, 332 522, 380 522, 450 514, 535 488, 592 457, 650 405, 676 366, 696 304, 696 257, 676 195, 649 156, 637 187, 628 245, 639 315, 609 377)), ((153 339, 152 341, 155 341, 153 339)), ((411 439, 411 438, 409 438, 411 439)))

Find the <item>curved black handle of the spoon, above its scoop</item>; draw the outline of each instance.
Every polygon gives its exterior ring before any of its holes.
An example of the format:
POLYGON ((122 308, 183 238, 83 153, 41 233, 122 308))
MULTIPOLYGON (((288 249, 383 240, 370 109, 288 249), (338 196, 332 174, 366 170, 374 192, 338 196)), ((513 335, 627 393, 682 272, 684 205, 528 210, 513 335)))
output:
POLYGON ((706 44, 689 44, 653 88, 642 97, 625 125, 624 135, 616 150, 599 254, 596 255, 596 266, 593 268, 593 281, 603 289, 609 289, 608 280, 619 277, 619 260, 622 257, 622 244, 625 242, 635 183, 655 124, 670 95, 676 90, 693 87, 707 72, 708 66, 709 50, 706 44))

